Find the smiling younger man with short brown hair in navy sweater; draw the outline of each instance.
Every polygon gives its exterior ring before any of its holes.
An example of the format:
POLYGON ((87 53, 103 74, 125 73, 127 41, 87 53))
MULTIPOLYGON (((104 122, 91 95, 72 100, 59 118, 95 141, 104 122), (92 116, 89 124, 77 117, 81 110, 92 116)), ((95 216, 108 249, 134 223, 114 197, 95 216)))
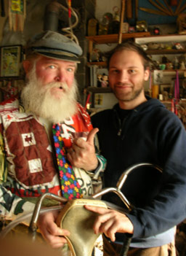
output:
MULTIPOLYGON (((179 118, 160 101, 145 96, 150 69, 146 53, 133 42, 108 55, 109 84, 118 104, 92 116, 102 155, 108 160, 105 187, 116 187, 121 174, 138 163, 152 163, 130 173, 122 187, 131 212, 86 206, 100 217, 95 233, 105 233, 104 256, 120 255, 124 233, 132 234, 128 255, 175 255, 175 225, 186 216, 186 133, 179 118)), ((115 194, 103 199, 124 207, 115 194)), ((125 207, 124 207, 125 209, 125 207)))

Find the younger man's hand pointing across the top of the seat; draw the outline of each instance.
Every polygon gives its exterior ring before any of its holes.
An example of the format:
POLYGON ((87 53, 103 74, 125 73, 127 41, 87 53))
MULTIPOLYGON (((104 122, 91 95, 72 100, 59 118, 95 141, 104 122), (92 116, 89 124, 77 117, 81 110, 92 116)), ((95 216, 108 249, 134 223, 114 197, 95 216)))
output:
POLYGON ((105 233, 111 241, 115 241, 115 234, 118 233, 134 233, 132 222, 126 217, 112 209, 105 209, 95 206, 84 206, 87 210, 100 214, 94 222, 94 233, 105 233))

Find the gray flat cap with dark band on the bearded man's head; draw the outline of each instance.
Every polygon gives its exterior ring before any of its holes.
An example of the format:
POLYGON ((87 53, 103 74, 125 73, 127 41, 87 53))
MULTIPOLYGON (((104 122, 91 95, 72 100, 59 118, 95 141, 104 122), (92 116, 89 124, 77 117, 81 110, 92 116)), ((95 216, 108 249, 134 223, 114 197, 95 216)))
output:
POLYGON ((81 47, 60 33, 44 31, 28 42, 28 52, 39 53, 49 58, 79 63, 78 57, 83 53, 81 47))

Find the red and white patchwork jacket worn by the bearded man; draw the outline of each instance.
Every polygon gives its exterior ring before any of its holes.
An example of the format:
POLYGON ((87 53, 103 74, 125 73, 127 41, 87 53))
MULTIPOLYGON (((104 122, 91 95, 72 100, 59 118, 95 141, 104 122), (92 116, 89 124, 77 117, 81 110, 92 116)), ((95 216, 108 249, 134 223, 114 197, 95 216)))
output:
MULTIPOLYGON (((63 131, 61 136, 65 147, 71 146, 74 134, 92 130, 90 117, 85 109, 80 104, 77 104, 77 108, 77 114, 61 124, 63 131)), ((52 131, 52 124, 47 124, 31 113, 21 112, 17 100, 9 100, 6 104, 2 104, 0 115, 0 132, 4 142, 2 151, 7 160, 7 181, 4 181, 3 185, 9 190, 9 196, 11 197, 10 192, 20 198, 38 197, 46 192, 61 195, 52 138, 49 134, 52 131)), ((101 164, 100 171, 103 166, 101 164)), ((4 166, 1 166, 1 169, 3 168, 4 166)), ((84 194, 91 193, 89 187, 91 185, 83 184, 84 180, 78 178, 84 194)), ((3 193, 0 187, 1 212, 4 212, 1 209, 3 193)), ((15 199, 17 200, 17 197, 15 199)), ((15 214, 20 209, 18 207, 16 210, 16 203, 11 211, 10 208, 7 206, 6 211, 15 214)))

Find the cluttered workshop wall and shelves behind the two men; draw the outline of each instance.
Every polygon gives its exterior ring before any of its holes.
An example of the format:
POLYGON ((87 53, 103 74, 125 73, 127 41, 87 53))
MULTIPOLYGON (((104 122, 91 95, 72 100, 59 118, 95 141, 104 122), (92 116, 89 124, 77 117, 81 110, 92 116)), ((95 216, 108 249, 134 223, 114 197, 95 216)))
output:
MULTIPOLYGON (((63 28, 69 27, 70 5, 76 12, 76 15, 71 12, 71 23, 76 24, 73 34, 84 50, 76 74, 81 104, 95 112, 95 109, 116 103, 108 88, 102 53, 114 47, 121 36, 122 40, 137 40, 145 50, 151 50, 153 71, 145 90, 150 96, 156 92, 154 97, 168 107, 176 102, 176 114, 186 125, 185 0, 1 0, 0 101, 18 97, 25 85, 21 61, 25 58, 24 47, 28 39, 44 29, 65 34, 63 28), (11 58, 13 68, 8 66, 12 65, 11 58), (153 80, 155 74, 159 81, 153 80), (176 85, 179 88, 177 98, 176 85)), ((185 223, 182 223, 177 228, 179 256, 186 255, 185 231, 185 223)))

